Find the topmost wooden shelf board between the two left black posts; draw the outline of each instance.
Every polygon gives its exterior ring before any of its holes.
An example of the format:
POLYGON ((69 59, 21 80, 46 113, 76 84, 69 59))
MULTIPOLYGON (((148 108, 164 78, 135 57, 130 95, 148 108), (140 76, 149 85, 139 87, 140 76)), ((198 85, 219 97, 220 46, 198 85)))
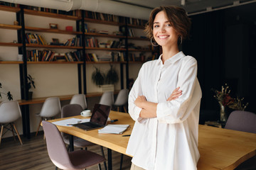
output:
POLYGON ((63 15, 63 14, 58 14, 58 13, 33 11, 33 10, 30 10, 30 9, 24 9, 24 13, 28 14, 28 15, 33 15, 33 16, 46 16, 46 17, 50 17, 50 18, 59 18, 59 19, 74 20, 74 21, 78 21, 78 20, 81 19, 78 16, 68 16, 68 15, 63 15))

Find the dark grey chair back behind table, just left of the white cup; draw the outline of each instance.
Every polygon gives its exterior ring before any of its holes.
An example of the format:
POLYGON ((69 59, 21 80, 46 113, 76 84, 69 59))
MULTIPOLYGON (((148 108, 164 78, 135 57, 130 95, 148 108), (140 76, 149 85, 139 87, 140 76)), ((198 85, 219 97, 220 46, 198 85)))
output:
POLYGON ((79 104, 68 104, 63 106, 61 110, 61 118, 80 115, 81 112, 82 112, 82 106, 80 106, 79 104))

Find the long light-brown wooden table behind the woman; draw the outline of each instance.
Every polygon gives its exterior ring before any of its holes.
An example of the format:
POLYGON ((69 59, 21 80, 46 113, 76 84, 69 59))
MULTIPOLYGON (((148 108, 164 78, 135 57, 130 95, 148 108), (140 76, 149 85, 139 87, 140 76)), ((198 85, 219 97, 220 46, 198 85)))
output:
MULTIPOLYGON (((83 117, 79 115, 75 116, 75 118, 83 117)), ((130 118, 129 114, 111 111, 110 118, 118 119, 113 124, 131 125, 131 128, 122 135, 131 134, 134 121, 130 118)), ((126 154, 125 151, 129 137, 99 134, 97 130, 85 131, 75 127, 58 126, 58 129, 61 132, 81 137, 97 145, 102 145, 103 147, 126 154)), ((198 140, 198 149, 201 154, 198 162, 198 170, 234 169, 256 154, 256 134, 253 133, 199 125, 198 140)))

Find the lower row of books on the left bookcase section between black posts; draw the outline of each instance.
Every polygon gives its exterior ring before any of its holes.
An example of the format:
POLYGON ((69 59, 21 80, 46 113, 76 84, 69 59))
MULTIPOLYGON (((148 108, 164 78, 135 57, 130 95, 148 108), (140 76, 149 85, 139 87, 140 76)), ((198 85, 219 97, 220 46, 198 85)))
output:
POLYGON ((81 59, 80 51, 58 53, 52 50, 27 50, 26 56, 30 62, 78 62, 81 59))

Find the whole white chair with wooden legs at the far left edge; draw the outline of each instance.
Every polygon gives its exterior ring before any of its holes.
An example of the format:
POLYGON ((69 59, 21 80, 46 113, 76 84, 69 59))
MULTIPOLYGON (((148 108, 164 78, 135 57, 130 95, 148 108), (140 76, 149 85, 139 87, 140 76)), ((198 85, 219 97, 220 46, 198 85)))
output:
MULTIPOLYGON (((18 118, 21 118, 21 109, 18 106, 18 101, 3 101, 0 103, 0 125, 1 125, 0 145, 1 145, 1 137, 3 136, 4 128, 6 128, 6 130, 11 130, 13 135, 15 130, 18 136, 18 140, 21 142, 21 145, 22 145, 21 137, 19 136, 18 130, 14 125, 14 121, 18 120, 18 118), (8 128, 8 125, 10 125, 11 128, 8 128)), ((14 140, 15 140, 15 135, 14 135, 14 140)))

